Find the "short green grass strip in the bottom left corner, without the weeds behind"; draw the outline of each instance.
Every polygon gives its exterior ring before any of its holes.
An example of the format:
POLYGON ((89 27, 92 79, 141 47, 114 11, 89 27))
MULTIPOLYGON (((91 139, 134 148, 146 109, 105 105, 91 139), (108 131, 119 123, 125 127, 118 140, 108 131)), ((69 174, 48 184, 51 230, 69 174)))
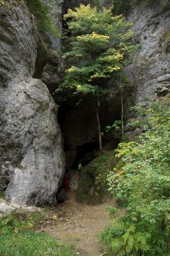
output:
POLYGON ((1 256, 75 256, 72 246, 55 237, 33 231, 0 236, 1 256))

